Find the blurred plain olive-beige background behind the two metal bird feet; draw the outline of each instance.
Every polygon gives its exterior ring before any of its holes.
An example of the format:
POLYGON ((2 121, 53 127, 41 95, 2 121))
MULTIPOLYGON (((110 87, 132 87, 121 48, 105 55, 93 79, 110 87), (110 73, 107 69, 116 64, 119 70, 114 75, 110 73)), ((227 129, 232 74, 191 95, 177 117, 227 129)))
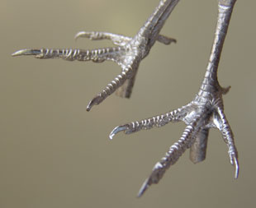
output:
POLYGON ((216 25, 217 1, 180 1, 140 64, 130 99, 111 95, 86 112, 119 72, 113 62, 12 58, 26 48, 110 46, 73 36, 99 30, 133 36, 159 0, 2 0, 0 3, 0 207, 253 207, 255 205, 255 12, 237 1, 220 60, 219 80, 232 86, 225 113, 235 133, 235 180, 220 132, 211 129, 206 160, 188 151, 158 185, 136 198, 183 123, 108 140, 112 128, 187 104, 201 84, 216 25))

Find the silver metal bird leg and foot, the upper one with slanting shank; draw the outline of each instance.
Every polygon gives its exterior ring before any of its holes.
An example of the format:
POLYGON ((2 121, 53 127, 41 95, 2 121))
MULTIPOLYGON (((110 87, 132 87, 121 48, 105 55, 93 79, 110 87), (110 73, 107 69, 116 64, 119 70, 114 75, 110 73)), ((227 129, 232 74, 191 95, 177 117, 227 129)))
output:
POLYGON ((162 0, 153 14, 145 22, 133 38, 108 32, 81 31, 75 39, 88 38, 91 40, 110 39, 116 47, 102 49, 22 49, 12 56, 33 55, 35 58, 62 58, 67 61, 116 62, 121 67, 121 73, 111 81, 88 104, 87 110, 93 105, 102 103, 104 99, 116 91, 116 95, 130 98, 135 82, 135 76, 142 59, 148 54, 155 41, 162 44, 176 43, 175 39, 159 35, 164 22, 167 20, 178 0, 162 0))

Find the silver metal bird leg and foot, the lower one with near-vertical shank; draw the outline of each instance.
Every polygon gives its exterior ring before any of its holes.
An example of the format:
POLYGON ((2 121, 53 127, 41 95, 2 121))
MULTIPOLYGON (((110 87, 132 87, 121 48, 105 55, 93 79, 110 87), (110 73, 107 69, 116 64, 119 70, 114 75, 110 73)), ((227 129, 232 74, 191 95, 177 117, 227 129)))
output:
POLYGON ((159 183, 165 171, 177 162, 188 148, 191 149, 190 159, 197 163, 206 157, 206 143, 211 127, 219 129, 225 143, 228 146, 230 164, 235 167, 235 178, 239 176, 238 152, 235 147, 234 136, 230 124, 225 118, 222 95, 225 95, 230 87, 222 88, 217 79, 217 69, 220 62, 220 53, 225 41, 225 35, 230 23, 230 17, 235 5, 235 0, 218 3, 218 18, 215 38, 211 49, 211 55, 206 67, 205 77, 201 83, 195 99, 180 109, 164 113, 153 118, 130 122, 116 127, 110 134, 110 139, 116 133, 124 131, 126 134, 138 132, 152 127, 163 127, 168 122, 183 121, 187 124, 181 138, 173 144, 164 157, 154 166, 149 178, 145 180, 138 196, 142 196, 153 183, 159 183))

